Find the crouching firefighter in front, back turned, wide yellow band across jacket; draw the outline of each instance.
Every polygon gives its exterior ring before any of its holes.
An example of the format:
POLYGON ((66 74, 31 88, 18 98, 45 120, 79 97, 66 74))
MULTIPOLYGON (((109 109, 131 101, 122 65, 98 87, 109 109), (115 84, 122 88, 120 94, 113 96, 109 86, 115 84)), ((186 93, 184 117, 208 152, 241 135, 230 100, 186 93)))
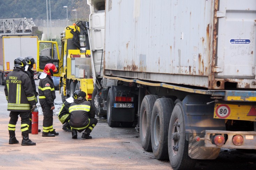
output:
POLYGON ((74 99, 69 107, 70 120, 69 124, 72 131, 72 138, 77 138, 77 131, 84 131, 82 138, 91 139, 90 133, 92 129, 97 124, 98 120, 95 117, 95 111, 92 107, 91 102, 86 99, 86 93, 80 91, 78 93, 78 98, 74 99))

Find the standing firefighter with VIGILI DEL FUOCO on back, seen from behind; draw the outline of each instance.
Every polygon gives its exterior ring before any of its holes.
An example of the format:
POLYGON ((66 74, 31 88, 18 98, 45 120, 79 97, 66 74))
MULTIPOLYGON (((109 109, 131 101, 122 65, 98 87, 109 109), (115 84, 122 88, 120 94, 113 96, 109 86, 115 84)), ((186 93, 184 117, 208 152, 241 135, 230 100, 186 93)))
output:
POLYGON ((10 111, 10 121, 8 124, 9 144, 18 144, 15 137, 15 127, 18 115, 21 117, 22 146, 36 145, 29 139, 29 113, 36 107, 33 87, 29 76, 24 68, 26 61, 22 57, 14 60, 14 69, 10 72, 5 81, 5 95, 8 101, 7 110, 10 111))

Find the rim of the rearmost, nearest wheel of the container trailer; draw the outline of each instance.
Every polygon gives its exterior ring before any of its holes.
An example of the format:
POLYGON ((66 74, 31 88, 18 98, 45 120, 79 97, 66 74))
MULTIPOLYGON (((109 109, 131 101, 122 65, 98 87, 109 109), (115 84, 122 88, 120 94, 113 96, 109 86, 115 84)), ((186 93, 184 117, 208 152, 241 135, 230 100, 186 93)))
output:
POLYGON ((179 138, 180 138, 180 123, 179 123, 179 118, 176 118, 172 125, 172 152, 174 155, 176 155, 179 150, 179 138))

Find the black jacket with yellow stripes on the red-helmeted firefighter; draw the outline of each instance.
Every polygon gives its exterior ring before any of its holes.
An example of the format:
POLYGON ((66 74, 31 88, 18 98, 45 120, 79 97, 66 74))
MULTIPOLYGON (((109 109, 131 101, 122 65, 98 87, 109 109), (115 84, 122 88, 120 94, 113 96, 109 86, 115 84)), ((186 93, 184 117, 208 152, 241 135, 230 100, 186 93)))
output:
POLYGON ((39 81, 38 86, 39 93, 39 101, 47 101, 51 107, 54 106, 54 99, 56 99, 53 79, 50 76, 46 76, 45 78, 39 81))

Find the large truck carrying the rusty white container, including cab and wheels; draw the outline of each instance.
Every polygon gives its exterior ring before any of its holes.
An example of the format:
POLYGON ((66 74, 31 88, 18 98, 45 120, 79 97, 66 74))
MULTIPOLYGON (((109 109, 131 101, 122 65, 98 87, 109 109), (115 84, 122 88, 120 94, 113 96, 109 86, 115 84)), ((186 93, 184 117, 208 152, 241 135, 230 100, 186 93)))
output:
POLYGON ((144 150, 193 169, 256 149, 255 0, 87 0, 92 104, 144 150))

